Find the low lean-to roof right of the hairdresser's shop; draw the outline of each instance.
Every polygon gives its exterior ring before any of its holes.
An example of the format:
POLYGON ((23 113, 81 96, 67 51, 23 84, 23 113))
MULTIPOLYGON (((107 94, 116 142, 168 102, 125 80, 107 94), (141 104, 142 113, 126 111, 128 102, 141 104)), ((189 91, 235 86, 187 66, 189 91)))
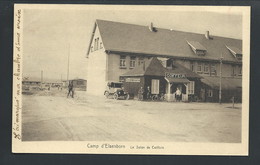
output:
MULTIPOLYGON (((201 79, 201 82, 204 84, 214 88, 219 89, 220 85, 220 78, 219 77, 204 77, 201 79)), ((240 78, 222 78, 221 80, 221 87, 224 90, 235 90, 237 88, 242 88, 242 79, 240 78)))

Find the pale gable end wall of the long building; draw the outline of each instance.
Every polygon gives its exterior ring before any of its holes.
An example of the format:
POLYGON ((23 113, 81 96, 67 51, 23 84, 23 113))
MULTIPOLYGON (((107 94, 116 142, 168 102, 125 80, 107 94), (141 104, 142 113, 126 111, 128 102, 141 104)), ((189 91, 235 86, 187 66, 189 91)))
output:
POLYGON ((91 43, 93 51, 90 51, 88 55, 87 93, 103 95, 107 80, 107 54, 104 51, 104 46, 102 48, 99 46, 99 49, 94 50, 94 40, 97 37, 99 37, 99 42, 102 42, 98 28, 96 28, 95 36, 91 43))

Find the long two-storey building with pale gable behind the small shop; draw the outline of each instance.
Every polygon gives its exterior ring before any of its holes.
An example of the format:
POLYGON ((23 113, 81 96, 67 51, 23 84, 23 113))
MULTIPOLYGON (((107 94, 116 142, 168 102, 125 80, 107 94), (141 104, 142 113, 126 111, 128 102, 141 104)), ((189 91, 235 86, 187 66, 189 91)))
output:
POLYGON ((126 73, 147 67, 153 57, 166 69, 178 65, 201 76, 164 87, 173 94, 176 86, 189 86, 189 94, 200 101, 218 101, 223 57, 222 100, 235 96, 241 101, 242 40, 104 20, 96 20, 87 52, 88 92, 102 95, 107 82, 124 81, 126 73))

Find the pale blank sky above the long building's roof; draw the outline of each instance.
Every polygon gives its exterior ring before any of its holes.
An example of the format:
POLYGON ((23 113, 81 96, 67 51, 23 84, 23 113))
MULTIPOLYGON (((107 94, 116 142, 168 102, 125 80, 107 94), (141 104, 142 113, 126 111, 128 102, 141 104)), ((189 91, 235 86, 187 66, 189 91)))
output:
POLYGON ((156 7, 24 9, 23 76, 87 78, 86 53, 96 19, 242 39, 242 13, 231 10, 182 11, 156 7))

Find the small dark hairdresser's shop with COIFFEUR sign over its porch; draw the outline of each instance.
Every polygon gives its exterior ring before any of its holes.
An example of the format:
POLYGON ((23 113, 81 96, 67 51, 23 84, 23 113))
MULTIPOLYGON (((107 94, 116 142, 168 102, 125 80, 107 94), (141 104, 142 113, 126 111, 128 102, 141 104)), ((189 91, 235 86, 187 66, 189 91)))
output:
POLYGON ((146 67, 137 67, 121 76, 125 90, 133 97, 137 98, 143 90, 144 99, 149 99, 149 94, 164 95, 167 101, 189 101, 199 79, 200 76, 180 65, 165 68, 157 58, 151 59, 146 67))

